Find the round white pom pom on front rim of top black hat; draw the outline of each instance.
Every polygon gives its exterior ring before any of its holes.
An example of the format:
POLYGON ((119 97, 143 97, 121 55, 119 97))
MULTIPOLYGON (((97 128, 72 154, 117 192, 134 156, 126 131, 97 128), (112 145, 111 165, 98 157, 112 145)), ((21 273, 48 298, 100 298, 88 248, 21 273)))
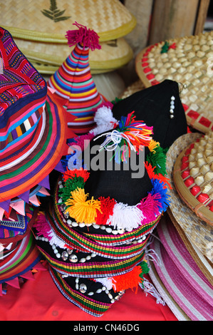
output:
POLYGON ((113 208, 113 215, 110 215, 106 224, 131 231, 141 225, 144 218, 142 211, 136 206, 118 202, 113 208))

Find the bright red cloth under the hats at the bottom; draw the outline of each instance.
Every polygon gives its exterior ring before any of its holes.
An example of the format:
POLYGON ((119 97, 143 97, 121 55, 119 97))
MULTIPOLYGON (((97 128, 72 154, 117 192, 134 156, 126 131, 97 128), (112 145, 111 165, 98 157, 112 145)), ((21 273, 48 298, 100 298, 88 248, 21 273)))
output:
POLYGON ((48 271, 38 271, 21 289, 8 287, 0 297, 1 321, 177 321, 168 306, 138 288, 128 289, 103 316, 91 316, 68 301, 48 271))

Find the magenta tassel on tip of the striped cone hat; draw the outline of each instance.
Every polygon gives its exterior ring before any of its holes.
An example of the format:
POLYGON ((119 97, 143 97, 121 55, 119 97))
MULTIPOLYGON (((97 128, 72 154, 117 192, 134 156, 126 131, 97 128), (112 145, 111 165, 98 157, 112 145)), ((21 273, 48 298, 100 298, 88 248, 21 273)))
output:
POLYGON ((76 43, 80 43, 80 45, 83 46, 83 50, 90 48, 93 51, 101 48, 98 43, 99 36, 95 31, 87 29, 82 24, 77 24, 77 22, 73 25, 77 26, 78 30, 68 30, 66 32, 68 46, 75 46, 76 43))

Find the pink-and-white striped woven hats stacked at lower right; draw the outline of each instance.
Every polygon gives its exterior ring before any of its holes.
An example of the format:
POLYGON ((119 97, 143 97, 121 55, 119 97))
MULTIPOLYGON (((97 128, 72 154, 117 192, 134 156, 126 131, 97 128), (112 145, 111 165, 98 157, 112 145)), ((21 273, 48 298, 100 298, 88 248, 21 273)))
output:
MULTIPOLYGON (((194 262, 169 216, 162 217, 157 233, 159 239, 155 238, 150 244, 156 253, 152 265, 167 292, 180 306, 173 312, 180 320, 184 320, 180 314, 182 310, 192 321, 212 321, 213 286, 194 262)), ((157 282, 155 272, 150 271, 150 277, 157 282)), ((164 294, 164 298, 171 305, 168 296, 164 294)))

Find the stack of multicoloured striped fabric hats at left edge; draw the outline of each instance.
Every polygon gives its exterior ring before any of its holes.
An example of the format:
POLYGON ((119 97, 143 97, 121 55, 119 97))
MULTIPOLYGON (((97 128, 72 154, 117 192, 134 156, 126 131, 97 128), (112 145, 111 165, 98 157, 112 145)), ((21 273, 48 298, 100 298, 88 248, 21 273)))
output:
MULTIPOLYGON (((5 29, 0 28, 0 283, 38 263, 31 227, 66 153, 66 113, 5 29)), ((73 118, 73 117, 72 117, 73 118)))

